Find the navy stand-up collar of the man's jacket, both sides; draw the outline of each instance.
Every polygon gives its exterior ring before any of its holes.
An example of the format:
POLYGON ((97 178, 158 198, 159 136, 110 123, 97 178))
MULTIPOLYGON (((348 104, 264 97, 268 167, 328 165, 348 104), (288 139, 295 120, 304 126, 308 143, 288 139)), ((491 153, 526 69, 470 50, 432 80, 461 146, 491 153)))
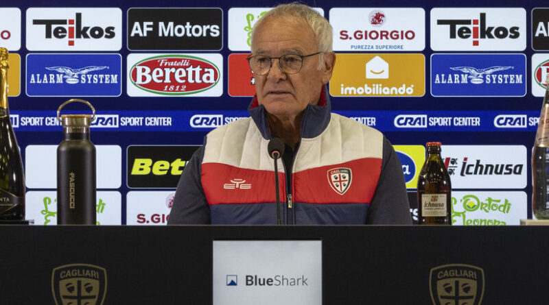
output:
MULTIPOLYGON (((267 113, 263 105, 259 105, 255 95, 248 107, 250 117, 261 132, 261 136, 270 140, 270 129, 267 121, 267 113)), ((318 105, 307 105, 301 119, 301 138, 314 138, 321 134, 330 122, 331 104, 328 95, 328 88, 320 90, 318 105)))

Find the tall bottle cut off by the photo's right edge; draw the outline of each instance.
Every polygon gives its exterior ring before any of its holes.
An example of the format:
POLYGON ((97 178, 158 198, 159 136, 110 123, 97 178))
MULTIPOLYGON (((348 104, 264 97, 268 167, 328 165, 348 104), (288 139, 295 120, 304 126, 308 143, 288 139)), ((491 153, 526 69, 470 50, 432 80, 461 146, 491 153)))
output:
POLYGON ((532 175, 532 212, 537 219, 549 219, 549 75, 532 152, 532 175))

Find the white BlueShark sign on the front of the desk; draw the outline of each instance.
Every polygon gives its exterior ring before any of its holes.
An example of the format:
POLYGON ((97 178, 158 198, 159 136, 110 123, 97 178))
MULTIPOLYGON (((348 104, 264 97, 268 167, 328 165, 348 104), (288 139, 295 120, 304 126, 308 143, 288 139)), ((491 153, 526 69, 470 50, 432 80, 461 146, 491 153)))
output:
POLYGON ((322 304, 322 241, 213 241, 213 305, 322 304))

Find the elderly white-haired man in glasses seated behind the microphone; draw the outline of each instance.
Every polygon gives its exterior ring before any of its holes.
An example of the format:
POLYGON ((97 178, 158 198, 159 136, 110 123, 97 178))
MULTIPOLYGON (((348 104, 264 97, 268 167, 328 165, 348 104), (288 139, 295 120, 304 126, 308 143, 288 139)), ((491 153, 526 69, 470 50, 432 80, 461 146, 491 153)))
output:
POLYGON ((168 224, 411 224, 404 175, 377 130, 332 114, 331 26, 285 4, 254 25, 250 118, 218 127, 183 171, 168 224), (277 209, 271 138, 285 143, 277 209))

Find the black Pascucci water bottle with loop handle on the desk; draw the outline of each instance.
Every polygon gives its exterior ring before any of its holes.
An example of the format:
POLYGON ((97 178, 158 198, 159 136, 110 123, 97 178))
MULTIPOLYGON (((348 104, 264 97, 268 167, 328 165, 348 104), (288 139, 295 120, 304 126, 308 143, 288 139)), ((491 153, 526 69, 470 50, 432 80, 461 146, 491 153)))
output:
POLYGON ((63 141, 57 147, 57 224, 95 225, 95 146, 90 141, 90 124, 95 109, 88 101, 71 99, 62 103, 57 117, 63 125, 63 141), (63 114, 73 101, 86 103, 93 114, 63 114))

